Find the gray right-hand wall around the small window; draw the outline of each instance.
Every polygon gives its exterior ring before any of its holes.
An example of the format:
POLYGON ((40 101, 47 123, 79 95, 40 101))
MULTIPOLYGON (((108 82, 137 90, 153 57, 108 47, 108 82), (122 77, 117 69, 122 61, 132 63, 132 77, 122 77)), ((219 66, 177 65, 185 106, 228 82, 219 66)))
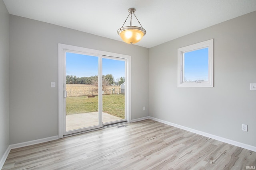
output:
POLYGON ((250 83, 256 83, 256 12, 149 50, 150 116, 256 147, 250 83), (208 39, 214 39, 214 87, 178 88, 177 49, 208 39))

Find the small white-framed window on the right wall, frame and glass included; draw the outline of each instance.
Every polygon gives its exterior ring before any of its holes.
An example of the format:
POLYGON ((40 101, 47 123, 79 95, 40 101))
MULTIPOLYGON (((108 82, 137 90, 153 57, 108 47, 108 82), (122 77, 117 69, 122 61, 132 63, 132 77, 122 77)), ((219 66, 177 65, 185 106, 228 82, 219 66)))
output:
POLYGON ((213 87, 213 39, 178 49, 178 87, 213 87))

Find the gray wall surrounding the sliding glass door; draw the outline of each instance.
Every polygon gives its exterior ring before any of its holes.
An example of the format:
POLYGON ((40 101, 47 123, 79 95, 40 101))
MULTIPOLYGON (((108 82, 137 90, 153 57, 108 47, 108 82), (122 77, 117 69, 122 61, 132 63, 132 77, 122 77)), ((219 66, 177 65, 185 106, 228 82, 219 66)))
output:
POLYGON ((148 116, 147 48, 10 15, 10 144, 58 135, 58 43, 131 55, 132 119, 148 116))

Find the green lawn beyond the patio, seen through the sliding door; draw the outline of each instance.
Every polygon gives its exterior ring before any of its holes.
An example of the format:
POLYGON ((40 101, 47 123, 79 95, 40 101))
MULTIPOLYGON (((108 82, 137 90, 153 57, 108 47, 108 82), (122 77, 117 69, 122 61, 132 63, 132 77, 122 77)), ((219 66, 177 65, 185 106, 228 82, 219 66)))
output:
MULTIPOLYGON (((103 112, 124 119, 125 96, 122 94, 103 95, 103 112)), ((88 98, 87 96, 67 97, 66 114, 89 113, 98 111, 98 96, 88 98)))

